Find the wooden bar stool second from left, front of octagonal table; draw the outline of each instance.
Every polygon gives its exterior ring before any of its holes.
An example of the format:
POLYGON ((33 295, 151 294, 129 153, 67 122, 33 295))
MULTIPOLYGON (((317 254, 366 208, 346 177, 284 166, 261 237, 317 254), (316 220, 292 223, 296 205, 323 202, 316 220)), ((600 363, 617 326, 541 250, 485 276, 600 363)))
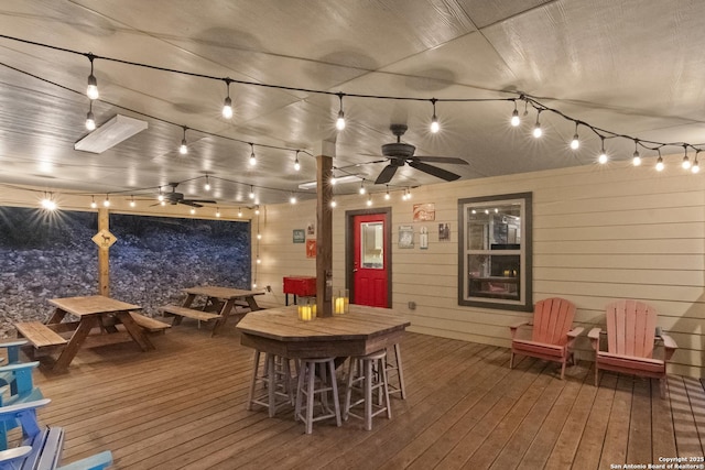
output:
POLYGON ((313 431, 314 422, 322 419, 335 417, 336 425, 343 425, 335 376, 335 358, 301 360, 294 417, 304 422, 306 434, 313 431), (332 394, 333 409, 328 404, 328 393, 332 394), (316 395, 319 396, 318 401, 315 400, 316 395), (302 403, 304 397, 306 402, 302 403), (321 406, 322 413, 314 416, 316 405, 321 406))

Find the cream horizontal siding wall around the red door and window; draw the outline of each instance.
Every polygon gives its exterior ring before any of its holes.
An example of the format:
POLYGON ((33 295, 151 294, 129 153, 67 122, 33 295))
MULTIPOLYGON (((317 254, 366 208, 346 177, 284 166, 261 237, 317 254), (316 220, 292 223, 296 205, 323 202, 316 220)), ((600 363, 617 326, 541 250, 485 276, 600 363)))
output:
MULTIPOLYGON (((401 192, 389 201, 373 195, 373 207, 392 208, 393 307, 410 316, 412 331, 509 347, 508 325, 530 314, 457 305, 457 200, 532 192, 534 302, 573 300, 575 321, 586 330, 604 325, 603 309, 614 299, 648 302, 680 346, 670 372, 705 376, 705 176, 686 174, 677 164, 674 156, 662 173, 653 162, 638 168, 621 162, 444 183, 413 189, 406 201, 401 192), (413 222, 413 205, 420 203, 435 204, 435 221, 413 222), (449 223, 449 242, 438 241, 438 223, 449 223), (413 249, 398 248, 400 225, 414 227, 413 249), (422 226, 429 229, 427 250, 419 248, 422 226)), ((334 284, 343 285, 345 212, 367 208, 367 197, 336 199, 334 284)), ((267 206, 260 217, 258 285, 272 287, 265 303, 283 305, 284 275, 315 275, 305 245, 292 242, 293 229, 315 222, 315 201, 267 206)), ((577 350, 581 359, 592 359, 586 338, 577 350)))

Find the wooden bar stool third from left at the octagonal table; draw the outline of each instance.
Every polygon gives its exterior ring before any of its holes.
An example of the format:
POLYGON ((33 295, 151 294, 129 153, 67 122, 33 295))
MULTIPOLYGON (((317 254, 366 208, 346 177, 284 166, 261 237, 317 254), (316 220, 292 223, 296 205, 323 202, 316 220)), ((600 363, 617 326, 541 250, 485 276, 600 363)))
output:
POLYGON ((350 358, 348 368, 347 390, 345 393, 344 418, 355 416, 365 419, 365 428, 372 429, 372 417, 387 412, 387 417, 391 419, 392 409, 389 406, 389 387, 387 384, 387 350, 372 352, 371 354, 350 358), (350 403, 352 392, 359 392, 362 397, 350 403), (379 403, 373 403, 372 393, 377 391, 380 396, 379 403), (365 414, 357 415, 350 409, 365 403, 365 414))

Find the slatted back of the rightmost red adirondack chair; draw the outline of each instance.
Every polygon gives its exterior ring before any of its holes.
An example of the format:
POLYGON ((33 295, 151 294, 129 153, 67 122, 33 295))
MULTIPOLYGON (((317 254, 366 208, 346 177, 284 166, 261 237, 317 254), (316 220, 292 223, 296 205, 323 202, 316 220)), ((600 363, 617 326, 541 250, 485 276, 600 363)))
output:
POLYGON ((657 310, 638 300, 618 300, 606 307, 607 350, 615 354, 651 358, 657 310))

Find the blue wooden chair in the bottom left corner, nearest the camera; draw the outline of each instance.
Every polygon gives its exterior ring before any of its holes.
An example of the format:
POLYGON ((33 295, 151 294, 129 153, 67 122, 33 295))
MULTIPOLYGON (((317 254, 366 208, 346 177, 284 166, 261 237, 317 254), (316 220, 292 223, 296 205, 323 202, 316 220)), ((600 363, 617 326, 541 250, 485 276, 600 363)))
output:
POLYGON ((17 420, 22 426, 22 444, 0 451, 0 470, 102 470, 112 463, 112 453, 106 450, 62 467, 64 428, 40 427, 36 408, 51 400, 20 403, 0 408, 0 420, 17 420))

